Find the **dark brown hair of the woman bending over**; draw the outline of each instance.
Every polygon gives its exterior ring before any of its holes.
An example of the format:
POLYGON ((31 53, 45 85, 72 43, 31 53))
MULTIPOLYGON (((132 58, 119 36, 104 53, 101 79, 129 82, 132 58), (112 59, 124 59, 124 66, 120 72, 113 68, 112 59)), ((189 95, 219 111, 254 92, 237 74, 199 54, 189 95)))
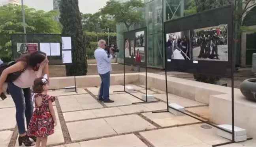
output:
POLYGON ((26 67, 36 67, 36 65, 42 63, 45 58, 46 54, 44 52, 36 51, 21 55, 21 59, 19 61, 24 61, 26 63, 26 67))

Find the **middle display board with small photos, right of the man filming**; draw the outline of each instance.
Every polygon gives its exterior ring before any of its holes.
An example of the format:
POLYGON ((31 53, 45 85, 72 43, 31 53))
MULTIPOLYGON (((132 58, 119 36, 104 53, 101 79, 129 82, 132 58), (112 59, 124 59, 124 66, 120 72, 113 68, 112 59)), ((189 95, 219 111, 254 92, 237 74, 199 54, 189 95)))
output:
POLYGON ((124 62, 145 65, 147 60, 147 28, 124 32, 124 62))

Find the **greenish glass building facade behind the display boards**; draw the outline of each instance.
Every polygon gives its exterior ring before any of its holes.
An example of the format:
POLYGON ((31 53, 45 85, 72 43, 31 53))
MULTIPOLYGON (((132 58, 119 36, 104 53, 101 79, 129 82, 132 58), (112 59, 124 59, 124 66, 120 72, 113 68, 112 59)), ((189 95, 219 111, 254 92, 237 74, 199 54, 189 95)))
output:
MULTIPOLYGON (((126 0, 118 0, 125 2, 126 0)), ((160 68, 164 67, 164 32, 163 23, 184 16, 184 9, 188 4, 187 0, 145 0, 145 7, 136 9, 143 13, 143 21, 134 24, 129 28, 136 30, 147 27, 147 66, 160 68)), ((118 62, 123 63, 124 36, 128 31, 124 24, 117 24, 117 46, 120 49, 118 62)))

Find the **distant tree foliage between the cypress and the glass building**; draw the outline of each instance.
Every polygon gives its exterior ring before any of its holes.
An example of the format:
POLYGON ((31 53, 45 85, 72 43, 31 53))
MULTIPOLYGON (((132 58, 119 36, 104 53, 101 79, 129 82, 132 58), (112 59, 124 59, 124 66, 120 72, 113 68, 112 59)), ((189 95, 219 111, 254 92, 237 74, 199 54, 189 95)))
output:
POLYGON ((88 32, 115 32, 116 23, 108 20, 105 14, 82 14, 82 23, 84 30, 88 32), (109 30, 107 30, 109 29, 109 30))

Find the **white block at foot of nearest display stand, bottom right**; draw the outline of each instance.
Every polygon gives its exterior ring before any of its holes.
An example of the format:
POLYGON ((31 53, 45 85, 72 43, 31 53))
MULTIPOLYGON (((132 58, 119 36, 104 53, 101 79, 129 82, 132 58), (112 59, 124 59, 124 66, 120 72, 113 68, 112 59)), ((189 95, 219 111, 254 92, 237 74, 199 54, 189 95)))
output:
MULTIPOLYGON (((232 125, 218 125, 225 130, 232 132, 232 125)), ((223 130, 217 130, 218 136, 232 140, 232 134, 225 132, 223 130)), ((247 131, 243 128, 235 127, 235 142, 246 141, 247 140, 247 131)))

